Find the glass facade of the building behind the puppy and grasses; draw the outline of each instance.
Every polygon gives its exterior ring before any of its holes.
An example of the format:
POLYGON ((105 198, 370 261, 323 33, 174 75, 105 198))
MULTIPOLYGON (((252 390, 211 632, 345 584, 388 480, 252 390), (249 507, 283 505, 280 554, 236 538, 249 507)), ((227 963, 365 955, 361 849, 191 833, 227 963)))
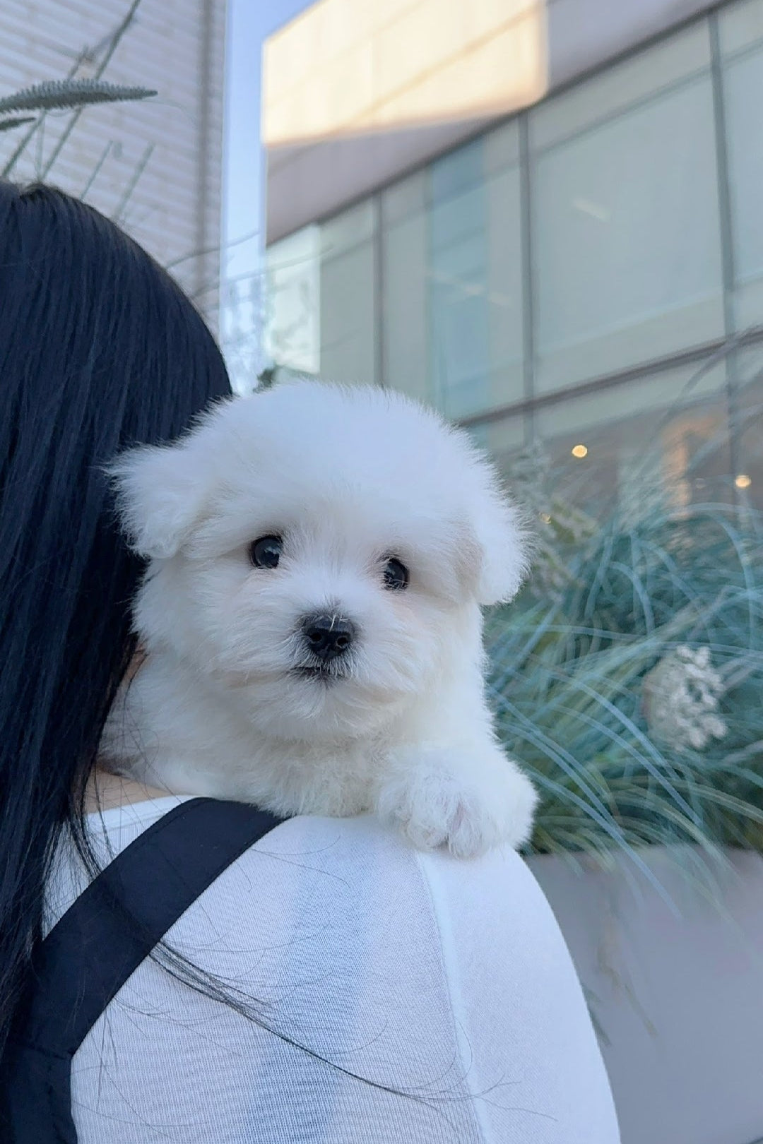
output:
POLYGON ((736 0, 268 251, 268 350, 400 389, 580 495, 647 445, 763 501, 763 0, 736 0), (715 444, 714 444, 715 443, 715 444))

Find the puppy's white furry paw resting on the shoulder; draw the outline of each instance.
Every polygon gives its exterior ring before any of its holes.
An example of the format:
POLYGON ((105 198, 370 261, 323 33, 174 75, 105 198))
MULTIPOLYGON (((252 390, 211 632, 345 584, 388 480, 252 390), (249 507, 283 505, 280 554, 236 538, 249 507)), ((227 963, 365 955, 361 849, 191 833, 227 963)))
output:
POLYGON ((415 749, 396 754, 380 784, 376 809, 419 850, 447 845, 472 858, 498 845, 518 849, 530 837, 537 794, 498 748, 483 757, 415 749))

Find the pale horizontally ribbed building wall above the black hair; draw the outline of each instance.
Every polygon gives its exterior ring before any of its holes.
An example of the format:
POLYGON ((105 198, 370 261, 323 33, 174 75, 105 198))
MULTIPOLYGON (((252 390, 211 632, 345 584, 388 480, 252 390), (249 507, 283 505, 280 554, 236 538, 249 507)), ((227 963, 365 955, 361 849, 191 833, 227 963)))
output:
MULTIPOLYGON (((82 48, 93 55, 77 74, 92 76, 128 8, 129 0, 3 0, 2 94, 63 78, 82 48)), ((87 201, 116 216, 164 265, 173 265, 213 319, 221 233, 224 39, 225 0, 142 0, 103 78, 153 88, 158 97, 86 109, 46 175, 75 194, 88 188, 87 201), (213 253, 193 256, 209 248, 213 253)), ((38 176, 67 121, 69 114, 48 116, 42 138, 30 146, 15 177, 38 176)), ((18 130, 0 135, 0 166, 19 137, 18 130)))

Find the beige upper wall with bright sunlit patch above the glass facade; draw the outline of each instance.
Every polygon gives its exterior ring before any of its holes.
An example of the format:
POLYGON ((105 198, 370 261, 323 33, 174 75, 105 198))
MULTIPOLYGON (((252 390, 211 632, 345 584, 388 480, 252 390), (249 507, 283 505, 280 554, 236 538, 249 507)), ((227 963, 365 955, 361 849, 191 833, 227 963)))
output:
POLYGON ((717 0, 317 0, 264 45, 267 240, 717 0))

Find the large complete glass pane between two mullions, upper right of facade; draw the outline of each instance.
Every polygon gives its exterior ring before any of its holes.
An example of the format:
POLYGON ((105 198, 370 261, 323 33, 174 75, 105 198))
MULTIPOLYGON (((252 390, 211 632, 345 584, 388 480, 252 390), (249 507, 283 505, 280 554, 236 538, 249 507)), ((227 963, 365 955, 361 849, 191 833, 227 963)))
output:
POLYGON ((538 392, 721 336, 709 72, 538 153, 532 216, 538 392))

